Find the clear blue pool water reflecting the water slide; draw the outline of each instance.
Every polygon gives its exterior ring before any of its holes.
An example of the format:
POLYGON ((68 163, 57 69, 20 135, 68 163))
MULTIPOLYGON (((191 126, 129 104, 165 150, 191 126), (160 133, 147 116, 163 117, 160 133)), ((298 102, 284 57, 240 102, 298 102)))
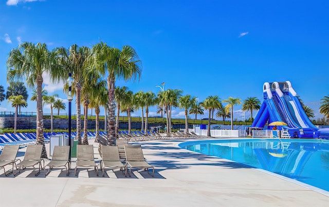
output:
POLYGON ((329 141, 207 140, 185 142, 179 146, 265 169, 329 191, 329 141))

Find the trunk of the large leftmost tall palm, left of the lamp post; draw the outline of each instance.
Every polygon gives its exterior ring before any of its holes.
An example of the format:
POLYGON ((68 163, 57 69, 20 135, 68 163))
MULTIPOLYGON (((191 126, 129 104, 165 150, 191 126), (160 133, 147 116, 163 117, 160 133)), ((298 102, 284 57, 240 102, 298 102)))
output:
POLYGON ((43 136, 43 109, 42 109, 42 76, 36 77, 36 144, 43 145, 41 158, 47 157, 45 140, 43 136))

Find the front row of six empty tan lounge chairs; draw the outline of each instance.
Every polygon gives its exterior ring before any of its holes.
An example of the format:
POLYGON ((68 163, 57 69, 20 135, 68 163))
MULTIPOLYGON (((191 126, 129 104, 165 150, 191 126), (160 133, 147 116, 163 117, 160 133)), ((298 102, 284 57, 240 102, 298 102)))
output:
MULTIPOLYGON (((129 168, 129 176, 131 176, 132 168, 143 168, 148 171, 153 168, 152 177, 154 176, 154 167, 144 161, 143 151, 140 145, 124 145, 125 160, 124 163, 120 160, 118 146, 102 146, 101 150, 101 171, 104 176, 105 168, 119 168, 122 172, 125 169, 124 175, 127 176, 129 168)), ((33 167, 34 175, 38 176, 40 170, 44 170, 45 175, 48 175, 53 167, 65 167, 66 176, 69 175, 70 160, 69 160, 69 146, 54 146, 52 160, 45 166, 45 162, 41 159, 43 145, 28 145, 23 161, 16 159, 19 145, 5 145, 0 155, 0 168, 4 169, 5 175, 9 176, 11 173, 16 176, 21 170, 26 167, 33 167), (19 163, 17 163, 20 161, 19 163), (6 172, 5 166, 12 165, 11 170, 6 172), (38 172, 35 166, 39 165, 38 172), (49 167, 46 172, 46 167, 49 167), (15 170, 19 170, 15 174, 15 170)), ((98 176, 98 166, 94 160, 93 145, 78 145, 77 146, 77 161, 75 167, 75 175, 78 174, 78 167, 94 167, 96 175, 98 176)))

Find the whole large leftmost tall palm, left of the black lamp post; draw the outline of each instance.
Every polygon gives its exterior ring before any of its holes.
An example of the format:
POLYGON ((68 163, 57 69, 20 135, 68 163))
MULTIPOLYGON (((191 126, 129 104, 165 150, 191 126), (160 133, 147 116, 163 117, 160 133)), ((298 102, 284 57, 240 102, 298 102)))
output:
POLYGON ((27 86, 36 85, 36 144, 43 145, 42 158, 47 158, 43 135, 42 74, 59 81, 62 74, 56 62, 56 52, 50 52, 46 44, 23 42, 10 51, 7 60, 7 81, 25 79, 27 86))

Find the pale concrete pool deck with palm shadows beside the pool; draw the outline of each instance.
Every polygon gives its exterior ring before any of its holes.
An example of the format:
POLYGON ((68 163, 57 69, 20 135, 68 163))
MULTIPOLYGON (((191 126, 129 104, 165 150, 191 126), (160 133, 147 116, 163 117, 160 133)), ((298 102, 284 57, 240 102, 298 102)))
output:
MULTIPOLYGON (((0 175, 1 206, 327 206, 329 197, 283 177, 179 148, 186 140, 139 142, 154 178, 145 171, 105 177, 82 169, 54 169, 37 177, 31 168, 17 177, 0 175)), ((99 154, 94 144, 95 157, 99 154)), ((21 149, 19 156, 24 156, 21 149)), ((23 158, 23 157, 22 157, 23 158)), ((72 163, 72 167, 74 164, 72 163)))

